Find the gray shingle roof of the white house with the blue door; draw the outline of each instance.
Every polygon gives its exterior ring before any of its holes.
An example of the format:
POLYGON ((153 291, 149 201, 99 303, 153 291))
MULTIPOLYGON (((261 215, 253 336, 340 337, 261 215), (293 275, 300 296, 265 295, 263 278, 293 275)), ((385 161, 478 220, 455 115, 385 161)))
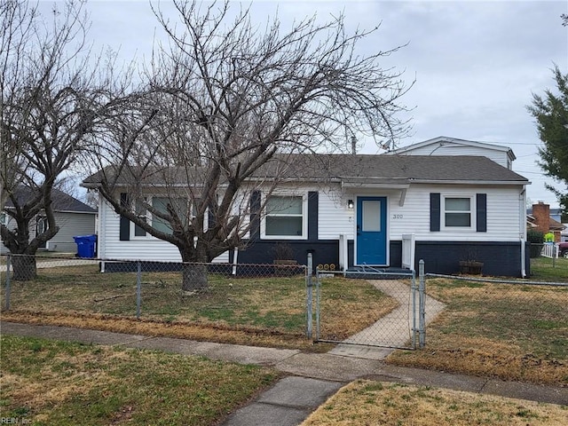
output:
MULTIPOLYGON (((203 170, 169 168, 146 173, 144 185, 166 181, 177 185, 201 182, 203 170)), ((106 168, 104 173, 112 172, 106 168)), ((96 186, 103 172, 83 181, 96 186)), ((132 182, 132 174, 124 172, 118 184, 132 182), (129 178, 130 177, 130 178, 129 178)), ((281 177, 295 180, 357 181, 373 179, 383 182, 508 182, 526 184, 528 180, 483 156, 455 155, 368 155, 368 154, 278 154, 271 162, 256 170, 253 177, 281 177)))

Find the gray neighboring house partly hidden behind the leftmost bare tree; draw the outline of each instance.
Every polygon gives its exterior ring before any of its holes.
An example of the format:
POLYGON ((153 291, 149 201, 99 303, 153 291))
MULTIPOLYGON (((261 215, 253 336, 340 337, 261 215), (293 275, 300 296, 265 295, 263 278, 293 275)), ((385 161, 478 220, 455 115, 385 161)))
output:
MULTIPOLYGON (((28 191, 27 188, 21 187, 17 196, 21 200, 26 200, 28 191)), ((57 189, 52 191, 52 203, 55 223, 59 226, 59 233, 50 241, 47 241, 43 248, 50 251, 76 253, 77 245, 73 237, 96 233, 97 210, 57 189)), ((4 206, 4 210, 9 209, 13 209, 13 204, 10 200, 4 206)), ((15 221, 12 217, 4 212, 2 215, 4 225, 7 225, 8 228, 15 227, 15 221)), ((40 213, 30 224, 30 239, 35 238, 37 234, 43 233, 46 226, 47 219, 40 213)), ((0 244, 0 249, 2 253, 8 251, 4 244, 0 244)))

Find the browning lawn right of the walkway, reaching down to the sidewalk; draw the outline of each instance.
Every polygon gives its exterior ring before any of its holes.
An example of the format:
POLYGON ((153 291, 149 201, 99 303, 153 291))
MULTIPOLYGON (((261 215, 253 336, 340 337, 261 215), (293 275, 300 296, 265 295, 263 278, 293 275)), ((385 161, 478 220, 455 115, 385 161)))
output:
POLYGON ((568 385, 568 288, 428 280, 446 311, 426 347, 388 362, 505 380, 568 385))

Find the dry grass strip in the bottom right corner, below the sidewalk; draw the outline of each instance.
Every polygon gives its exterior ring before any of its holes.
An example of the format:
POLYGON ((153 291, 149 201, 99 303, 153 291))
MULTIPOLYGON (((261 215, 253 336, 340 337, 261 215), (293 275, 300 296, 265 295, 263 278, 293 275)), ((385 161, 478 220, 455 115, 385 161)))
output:
POLYGON ((329 398, 302 425, 564 426, 567 422, 568 406, 359 380, 329 398))

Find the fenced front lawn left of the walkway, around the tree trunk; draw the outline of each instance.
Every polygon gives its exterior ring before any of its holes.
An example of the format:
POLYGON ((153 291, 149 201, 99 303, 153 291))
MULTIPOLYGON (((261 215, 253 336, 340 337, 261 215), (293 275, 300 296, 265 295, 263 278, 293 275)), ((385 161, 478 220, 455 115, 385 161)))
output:
MULTIPOLYGON (((38 269, 37 275, 36 280, 12 280, 11 310, 4 312, 5 316, 22 320, 13 316, 34 314, 54 319, 75 315, 78 322, 85 322, 85 316, 136 319, 134 272, 100 273, 97 264, 79 266, 70 261, 67 266, 38 269)), ((191 293, 182 291, 181 280, 181 272, 143 272, 140 319, 169 326, 209 327, 211 335, 193 337, 200 340, 219 341, 223 337, 220 331, 236 330, 255 338, 286 336, 309 343, 304 275, 239 278, 209 273, 208 288, 191 293)), ((326 326, 335 335, 353 335, 396 305, 366 280, 335 277, 325 286, 322 312, 326 312, 326 326)), ((315 312, 315 301, 313 305, 315 312)))

